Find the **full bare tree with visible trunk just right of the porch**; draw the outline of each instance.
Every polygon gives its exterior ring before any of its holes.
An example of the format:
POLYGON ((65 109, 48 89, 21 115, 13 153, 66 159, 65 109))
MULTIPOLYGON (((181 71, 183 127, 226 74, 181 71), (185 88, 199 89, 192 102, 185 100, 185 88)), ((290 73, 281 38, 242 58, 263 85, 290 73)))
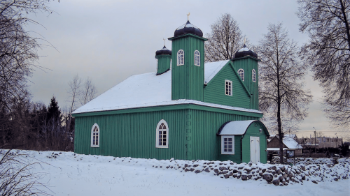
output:
POLYGON ((307 66, 298 60, 297 43, 288 38, 288 31, 281 23, 269 24, 267 30, 257 47, 261 59, 259 107, 276 121, 283 163, 282 120, 302 121, 312 96, 302 88, 307 66))

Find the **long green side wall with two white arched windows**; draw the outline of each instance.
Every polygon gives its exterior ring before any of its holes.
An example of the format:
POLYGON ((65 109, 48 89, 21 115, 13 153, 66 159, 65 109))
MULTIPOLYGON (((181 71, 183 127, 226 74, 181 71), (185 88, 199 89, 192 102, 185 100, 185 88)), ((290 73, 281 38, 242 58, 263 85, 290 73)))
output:
POLYGON ((74 151, 103 156, 186 159, 185 121, 182 120, 185 114, 186 110, 176 110, 76 117, 74 151), (168 149, 155 148, 156 127, 162 119, 169 126, 168 149), (98 148, 90 147, 94 123, 100 128, 98 148))

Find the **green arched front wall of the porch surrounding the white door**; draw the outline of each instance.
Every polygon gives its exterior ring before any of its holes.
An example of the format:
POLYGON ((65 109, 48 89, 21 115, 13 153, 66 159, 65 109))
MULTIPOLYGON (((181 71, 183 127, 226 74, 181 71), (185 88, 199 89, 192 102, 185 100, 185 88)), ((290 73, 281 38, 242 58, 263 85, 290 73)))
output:
POLYGON ((253 123, 251 126, 248 127, 248 130, 246 130, 246 134, 244 135, 242 139, 242 162, 248 163, 251 161, 251 136, 253 137, 260 137, 260 163, 266 163, 267 162, 267 135, 264 131, 262 133, 259 132, 259 129, 265 130, 265 127, 262 126, 260 123, 253 123), (256 125, 256 126, 255 126, 256 125))

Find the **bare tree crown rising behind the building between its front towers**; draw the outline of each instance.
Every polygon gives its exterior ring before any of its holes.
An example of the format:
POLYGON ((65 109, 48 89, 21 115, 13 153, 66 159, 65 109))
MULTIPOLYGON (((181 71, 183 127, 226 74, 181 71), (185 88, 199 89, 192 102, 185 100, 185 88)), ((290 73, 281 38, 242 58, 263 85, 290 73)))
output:
POLYGON ((211 33, 206 36, 209 39, 204 43, 206 62, 233 59, 237 50, 243 46, 241 29, 229 13, 221 15, 211 24, 211 33))

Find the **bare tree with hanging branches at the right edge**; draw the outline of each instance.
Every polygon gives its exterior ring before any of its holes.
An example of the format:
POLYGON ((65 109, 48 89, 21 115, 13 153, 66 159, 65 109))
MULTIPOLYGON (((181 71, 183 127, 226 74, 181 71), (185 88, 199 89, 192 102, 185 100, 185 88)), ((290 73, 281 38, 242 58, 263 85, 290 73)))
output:
POLYGON ((325 93, 334 126, 350 126, 350 1, 298 0, 300 31, 309 34, 302 58, 325 93))

